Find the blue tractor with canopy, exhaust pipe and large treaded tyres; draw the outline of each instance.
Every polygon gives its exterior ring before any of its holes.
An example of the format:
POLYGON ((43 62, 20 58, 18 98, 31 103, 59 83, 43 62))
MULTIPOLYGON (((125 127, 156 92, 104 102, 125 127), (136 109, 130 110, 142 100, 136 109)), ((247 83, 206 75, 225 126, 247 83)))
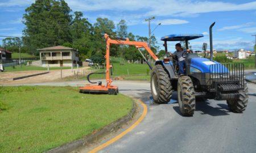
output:
MULTIPOLYGON (((230 111, 242 113, 248 103, 248 88, 244 79, 242 63, 221 64, 213 61, 212 27, 210 25, 210 58, 201 58, 196 53, 183 54, 185 57, 185 75, 178 74, 177 59, 169 56, 156 61, 151 73, 151 94, 158 104, 169 103, 172 91, 177 91, 181 114, 193 116, 196 99, 226 100, 230 111)), ((167 41, 188 41, 203 35, 168 35, 164 41, 166 54, 167 41)), ((207 44, 203 45, 203 48, 207 44)), ((205 54, 204 54, 205 57, 205 54)))

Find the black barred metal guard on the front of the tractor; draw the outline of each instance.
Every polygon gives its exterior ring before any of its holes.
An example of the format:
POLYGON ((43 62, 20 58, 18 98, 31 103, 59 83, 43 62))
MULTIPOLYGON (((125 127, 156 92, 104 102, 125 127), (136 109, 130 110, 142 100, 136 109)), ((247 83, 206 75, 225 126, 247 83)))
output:
POLYGON ((209 84, 211 88, 230 91, 245 86, 245 67, 243 63, 225 63, 210 65, 209 84))

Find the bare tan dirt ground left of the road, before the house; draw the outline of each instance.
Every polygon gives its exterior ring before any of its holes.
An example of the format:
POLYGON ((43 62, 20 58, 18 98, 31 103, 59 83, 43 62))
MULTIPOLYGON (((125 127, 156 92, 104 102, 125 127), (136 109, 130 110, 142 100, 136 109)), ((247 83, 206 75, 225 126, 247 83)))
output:
MULTIPOLYGON (((91 72, 88 70, 89 67, 80 68, 79 75, 86 75, 91 72)), ((18 71, 18 72, 10 72, 10 73, 0 73, 0 84, 19 84, 19 83, 40 83, 40 82, 51 82, 55 80, 61 79, 61 71, 60 70, 50 70, 48 74, 32 76, 30 78, 24 78, 20 80, 13 80, 13 78, 33 75, 38 73, 44 73, 46 71, 18 71)), ((62 70, 62 78, 77 75, 77 69, 73 71, 71 69, 62 70)))

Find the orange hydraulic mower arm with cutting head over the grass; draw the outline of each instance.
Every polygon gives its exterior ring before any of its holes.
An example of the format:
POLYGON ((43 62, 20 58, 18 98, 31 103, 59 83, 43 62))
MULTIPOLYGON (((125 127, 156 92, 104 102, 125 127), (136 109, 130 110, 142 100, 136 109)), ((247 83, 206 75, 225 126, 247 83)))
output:
MULTIPOLYGON (((101 82, 98 84, 98 86, 85 86, 80 88, 80 92, 86 92, 86 93, 106 93, 106 94, 117 94, 118 93, 118 87, 111 86, 111 83, 113 82, 113 79, 110 77, 110 71, 112 69, 112 65, 110 65, 110 45, 111 44, 117 44, 117 45, 133 45, 138 50, 139 48, 144 48, 147 50, 147 52, 150 54, 150 56, 155 60, 158 61, 158 57, 152 52, 152 50, 148 47, 146 42, 141 41, 130 41, 129 39, 110 39, 109 35, 105 33, 104 35, 106 40, 106 86, 102 85, 101 82)), ((141 53, 141 50, 139 50, 141 53)), ((142 53, 141 53, 142 54, 142 53)), ((143 56, 143 54, 142 54, 143 56)), ((143 56, 144 59, 146 59, 143 56)), ((147 62, 147 61, 146 61, 147 62)), ((149 63, 147 62, 148 66, 149 63)), ((150 66, 151 68, 151 66, 150 66)), ((89 80, 89 79, 88 79, 89 80)))

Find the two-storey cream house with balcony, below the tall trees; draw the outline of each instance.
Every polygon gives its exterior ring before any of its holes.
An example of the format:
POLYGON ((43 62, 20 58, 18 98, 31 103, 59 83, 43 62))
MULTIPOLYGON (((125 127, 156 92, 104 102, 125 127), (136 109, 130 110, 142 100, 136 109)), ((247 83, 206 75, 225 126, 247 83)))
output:
POLYGON ((79 61, 77 50, 65 46, 52 46, 38 51, 42 67, 76 66, 79 61))

